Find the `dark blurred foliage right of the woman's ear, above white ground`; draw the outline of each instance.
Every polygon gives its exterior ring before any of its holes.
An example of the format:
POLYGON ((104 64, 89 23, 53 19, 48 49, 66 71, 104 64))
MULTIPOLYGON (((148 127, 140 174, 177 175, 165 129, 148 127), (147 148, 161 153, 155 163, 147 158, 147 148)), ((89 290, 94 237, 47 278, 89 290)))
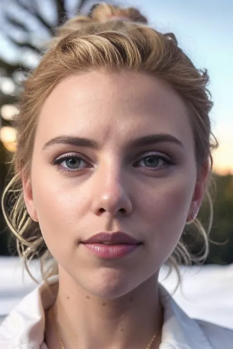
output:
MULTIPOLYGON (((205 264, 231 264, 233 263, 233 175, 213 174, 209 192, 213 203, 213 221, 209 233, 210 250, 205 264)), ((206 231, 209 216, 210 206, 205 199, 198 218, 206 231)), ((184 242, 189 251, 197 256, 203 250, 203 238, 192 226, 186 229, 184 242)))

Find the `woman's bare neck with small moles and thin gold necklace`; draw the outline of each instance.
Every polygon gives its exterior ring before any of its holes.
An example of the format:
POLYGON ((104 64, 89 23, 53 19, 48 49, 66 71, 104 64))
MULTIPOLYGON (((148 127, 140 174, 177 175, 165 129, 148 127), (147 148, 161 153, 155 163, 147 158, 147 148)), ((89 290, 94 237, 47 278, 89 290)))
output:
MULTIPOLYGON (((158 274, 130 293, 105 300, 88 294, 69 276, 59 275, 54 313, 65 349, 146 349, 156 330, 161 337, 162 308, 158 297, 158 274), (67 279, 68 278, 68 279, 67 279)), ((55 319, 47 322, 47 345, 61 348, 55 319)))

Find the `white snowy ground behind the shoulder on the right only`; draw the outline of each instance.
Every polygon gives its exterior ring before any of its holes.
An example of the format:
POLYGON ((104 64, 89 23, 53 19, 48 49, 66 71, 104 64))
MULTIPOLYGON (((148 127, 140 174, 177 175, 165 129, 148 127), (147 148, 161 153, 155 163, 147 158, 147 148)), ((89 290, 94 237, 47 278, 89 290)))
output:
MULTIPOLYGON (((180 307, 191 318, 233 329, 233 265, 181 267, 180 272, 182 285, 174 294, 180 307)), ((161 283, 173 294, 174 274, 161 283)))

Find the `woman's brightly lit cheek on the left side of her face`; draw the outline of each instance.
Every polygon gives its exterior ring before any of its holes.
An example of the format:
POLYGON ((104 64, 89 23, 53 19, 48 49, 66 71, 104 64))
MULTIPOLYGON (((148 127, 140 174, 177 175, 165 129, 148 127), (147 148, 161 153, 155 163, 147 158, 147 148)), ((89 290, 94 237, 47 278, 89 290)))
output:
POLYGON ((57 252, 68 255, 75 248, 85 193, 77 184, 65 185, 60 175, 52 176, 46 169, 38 176, 34 168, 31 177, 33 202, 45 243, 54 256, 57 252))

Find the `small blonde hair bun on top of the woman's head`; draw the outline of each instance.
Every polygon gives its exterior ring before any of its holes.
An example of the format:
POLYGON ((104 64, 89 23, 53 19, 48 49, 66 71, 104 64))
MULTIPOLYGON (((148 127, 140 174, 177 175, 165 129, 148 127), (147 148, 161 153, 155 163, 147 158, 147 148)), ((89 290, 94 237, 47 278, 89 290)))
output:
POLYGON ((136 8, 122 8, 106 2, 94 4, 89 11, 88 17, 94 22, 107 22, 118 19, 147 24, 146 17, 136 8))

